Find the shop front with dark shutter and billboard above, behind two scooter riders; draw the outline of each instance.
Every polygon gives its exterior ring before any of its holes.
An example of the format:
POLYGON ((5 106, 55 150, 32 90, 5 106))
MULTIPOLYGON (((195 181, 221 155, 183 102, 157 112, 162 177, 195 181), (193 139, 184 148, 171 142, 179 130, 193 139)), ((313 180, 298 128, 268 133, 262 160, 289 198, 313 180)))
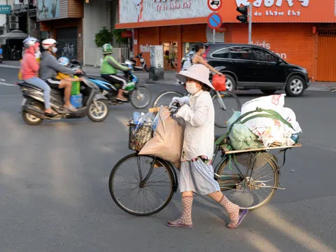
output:
POLYGON ((58 42, 57 57, 83 62, 83 1, 38 1, 38 21, 41 31, 58 42), (51 10, 51 11, 50 11, 51 10))

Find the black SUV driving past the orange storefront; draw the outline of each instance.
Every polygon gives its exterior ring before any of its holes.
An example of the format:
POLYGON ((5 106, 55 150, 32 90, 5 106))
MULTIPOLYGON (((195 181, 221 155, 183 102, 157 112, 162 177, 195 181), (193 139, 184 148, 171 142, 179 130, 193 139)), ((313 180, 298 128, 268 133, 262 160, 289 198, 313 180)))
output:
POLYGON ((257 45, 213 43, 206 45, 204 59, 225 73, 228 90, 260 89, 265 94, 285 90, 298 97, 309 87, 307 70, 289 64, 257 45))

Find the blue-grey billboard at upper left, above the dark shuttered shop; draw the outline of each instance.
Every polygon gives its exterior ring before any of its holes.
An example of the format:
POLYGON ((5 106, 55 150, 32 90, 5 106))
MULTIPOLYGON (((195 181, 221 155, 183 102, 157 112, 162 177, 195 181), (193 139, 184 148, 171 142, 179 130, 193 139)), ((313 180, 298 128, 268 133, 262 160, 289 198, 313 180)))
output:
POLYGON ((59 1, 60 0, 38 0, 36 10, 38 20, 59 18, 59 1))

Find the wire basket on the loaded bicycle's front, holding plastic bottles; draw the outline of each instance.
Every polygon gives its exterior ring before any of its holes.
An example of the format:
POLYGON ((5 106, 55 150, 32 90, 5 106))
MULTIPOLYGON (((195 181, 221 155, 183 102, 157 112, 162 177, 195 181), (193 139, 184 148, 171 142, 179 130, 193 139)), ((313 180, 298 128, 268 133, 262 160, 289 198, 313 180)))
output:
POLYGON ((141 151, 141 148, 153 137, 151 126, 139 126, 130 123, 130 138, 128 148, 132 151, 141 151))

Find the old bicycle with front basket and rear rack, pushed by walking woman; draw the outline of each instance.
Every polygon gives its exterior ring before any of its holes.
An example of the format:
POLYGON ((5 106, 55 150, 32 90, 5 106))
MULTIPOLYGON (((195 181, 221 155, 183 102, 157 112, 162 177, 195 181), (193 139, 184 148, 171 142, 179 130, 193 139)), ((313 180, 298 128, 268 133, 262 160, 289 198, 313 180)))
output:
MULTIPOLYGON (((130 143, 134 137, 132 135, 134 127, 136 126, 130 125, 130 143)), ((136 139, 137 147, 144 146, 153 134, 150 127, 142 127, 144 136, 138 136, 140 138, 136 139)), ((214 179, 218 181, 221 190, 231 202, 238 204, 241 209, 251 211, 267 204, 276 190, 286 189, 279 183, 280 168, 285 165, 286 151, 301 147, 301 144, 229 151, 223 145, 226 144, 225 141, 223 136, 215 136, 216 148, 213 160, 216 160, 218 153, 221 160, 216 166, 214 165, 214 179), (276 149, 279 149, 279 153, 275 155, 269 153, 276 149), (281 166, 276 158, 280 153, 283 153, 281 166), (265 172, 262 172, 264 167, 265 172)), ((129 148, 134 150, 131 144, 129 148)), ((156 214, 167 207, 178 189, 176 169, 179 170, 171 162, 151 155, 139 155, 136 151, 119 160, 113 167, 109 177, 111 197, 118 207, 128 214, 134 216, 156 214), (134 162, 134 166, 127 172, 127 164, 130 162, 134 162), (123 192, 125 195, 120 196, 123 192)))

